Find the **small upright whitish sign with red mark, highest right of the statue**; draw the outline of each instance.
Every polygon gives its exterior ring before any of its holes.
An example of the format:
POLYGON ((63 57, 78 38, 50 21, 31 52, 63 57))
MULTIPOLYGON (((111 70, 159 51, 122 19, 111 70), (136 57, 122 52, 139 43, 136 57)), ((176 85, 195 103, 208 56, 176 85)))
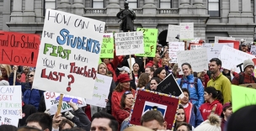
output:
POLYGON ((180 23, 179 39, 194 39, 194 23, 180 23))

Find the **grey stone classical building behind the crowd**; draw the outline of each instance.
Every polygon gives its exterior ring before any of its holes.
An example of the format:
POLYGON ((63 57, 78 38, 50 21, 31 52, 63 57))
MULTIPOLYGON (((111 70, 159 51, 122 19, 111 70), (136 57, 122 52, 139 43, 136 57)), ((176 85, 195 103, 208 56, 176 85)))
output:
MULTIPOLYGON (((194 23, 195 37, 214 41, 232 36, 253 41, 254 0, 128 0, 136 13, 135 29, 157 28, 164 42, 168 24, 194 23)), ((0 0, 0 29, 41 34, 45 8, 75 13, 106 22, 106 30, 119 32, 116 13, 125 0, 0 0)), ((54 28, 54 27, 53 27, 54 28)))

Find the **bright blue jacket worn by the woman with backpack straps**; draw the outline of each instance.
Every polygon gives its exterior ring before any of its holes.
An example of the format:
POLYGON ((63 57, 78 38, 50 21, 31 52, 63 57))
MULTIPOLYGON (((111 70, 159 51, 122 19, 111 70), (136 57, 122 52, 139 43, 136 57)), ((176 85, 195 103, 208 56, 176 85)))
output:
MULTIPOLYGON (((182 88, 187 88, 189 90, 189 99, 190 102, 192 102, 196 107, 200 107, 201 104, 205 102, 204 98, 204 86, 202 84, 202 81, 198 79, 197 86, 198 91, 196 92, 195 85, 189 84, 194 83, 194 75, 190 74, 189 76, 184 76, 184 82, 181 85, 182 88)), ((181 79, 178 79, 177 82, 180 85, 181 79)))

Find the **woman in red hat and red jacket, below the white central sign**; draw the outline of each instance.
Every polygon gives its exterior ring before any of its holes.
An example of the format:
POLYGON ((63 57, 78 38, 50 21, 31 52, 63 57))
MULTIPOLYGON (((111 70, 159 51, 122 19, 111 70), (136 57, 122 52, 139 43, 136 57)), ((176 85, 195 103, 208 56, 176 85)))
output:
POLYGON ((116 112, 120 109, 121 97, 126 91, 135 95, 135 90, 130 86, 131 78, 128 74, 120 74, 117 77, 118 85, 115 87, 111 97, 112 115, 116 118, 116 112))

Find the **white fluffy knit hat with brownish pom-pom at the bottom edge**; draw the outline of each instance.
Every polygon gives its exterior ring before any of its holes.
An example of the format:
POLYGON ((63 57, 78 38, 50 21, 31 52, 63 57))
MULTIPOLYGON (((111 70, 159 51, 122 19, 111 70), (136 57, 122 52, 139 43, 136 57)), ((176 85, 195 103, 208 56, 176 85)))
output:
POLYGON ((221 131, 221 118, 212 113, 208 119, 200 123, 194 131, 221 131))

